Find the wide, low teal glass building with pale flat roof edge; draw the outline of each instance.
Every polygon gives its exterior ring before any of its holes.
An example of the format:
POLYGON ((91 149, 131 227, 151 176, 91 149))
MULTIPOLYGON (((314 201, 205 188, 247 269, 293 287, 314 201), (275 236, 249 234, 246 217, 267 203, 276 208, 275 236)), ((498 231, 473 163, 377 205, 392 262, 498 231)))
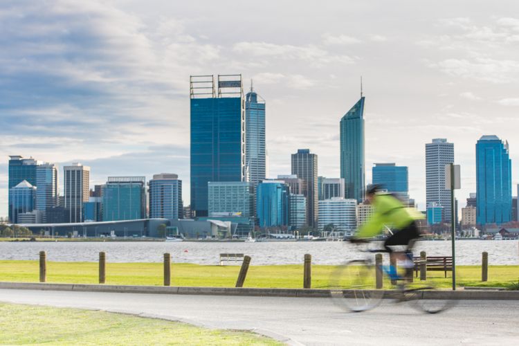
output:
POLYGON ((145 176, 109 176, 102 187, 102 220, 136 220, 145 217, 145 176))

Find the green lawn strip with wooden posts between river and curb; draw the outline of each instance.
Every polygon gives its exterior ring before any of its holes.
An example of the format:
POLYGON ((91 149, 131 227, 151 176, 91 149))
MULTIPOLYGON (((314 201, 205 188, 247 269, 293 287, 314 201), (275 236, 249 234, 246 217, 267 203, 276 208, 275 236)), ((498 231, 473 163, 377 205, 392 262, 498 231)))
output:
MULTIPOLYGON (((335 266, 312 266, 312 287, 326 289, 335 266)), ((0 281, 38 282, 37 261, 0 261, 0 281)), ((234 287, 239 266, 202 266, 172 264, 172 286, 234 287)), ((481 282, 480 266, 457 266, 458 282, 462 286, 507 286, 517 282, 519 266, 490 266, 489 281, 481 282)), ((107 284, 163 284, 161 263, 107 263, 107 284)), ((450 286, 443 272, 428 272, 428 277, 444 287, 450 286)), ((302 265, 251 266, 245 287, 302 288, 302 265)), ((48 262, 47 282, 98 283, 98 264, 95 262, 48 262)))

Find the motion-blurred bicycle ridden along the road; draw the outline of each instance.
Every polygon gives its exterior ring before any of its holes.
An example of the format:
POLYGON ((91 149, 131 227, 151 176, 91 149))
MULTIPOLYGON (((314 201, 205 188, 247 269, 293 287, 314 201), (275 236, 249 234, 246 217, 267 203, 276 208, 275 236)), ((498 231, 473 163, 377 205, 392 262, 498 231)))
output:
MULTIPOLYGON (((374 253, 388 253, 385 249, 367 248, 361 252, 370 256, 345 262, 331 273, 330 295, 339 307, 353 312, 367 311, 377 307, 384 297, 393 298, 395 302, 410 302, 412 307, 426 313, 446 311, 456 304, 456 300, 438 294, 440 277, 428 275, 426 280, 413 279, 412 268, 406 275, 399 275, 391 266, 374 263, 374 253), (394 289, 383 289, 390 285, 394 289)), ((412 252, 406 251, 406 255, 412 261, 412 252)))

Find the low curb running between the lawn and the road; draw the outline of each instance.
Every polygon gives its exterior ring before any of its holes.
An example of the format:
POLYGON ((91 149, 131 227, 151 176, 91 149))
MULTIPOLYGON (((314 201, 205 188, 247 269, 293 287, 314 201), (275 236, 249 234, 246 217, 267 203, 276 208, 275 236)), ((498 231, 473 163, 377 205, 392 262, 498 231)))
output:
MULTIPOLYGON (((0 282, 0 289, 34 289, 44 291, 81 291, 111 293, 152 293, 186 295, 249 295, 259 297, 329 298, 329 289, 253 289, 235 287, 129 286, 110 284, 47 284, 39 282, 0 282)), ((384 298, 394 298, 386 291, 384 298)), ((519 291, 421 291, 426 299, 519 300, 519 291)))

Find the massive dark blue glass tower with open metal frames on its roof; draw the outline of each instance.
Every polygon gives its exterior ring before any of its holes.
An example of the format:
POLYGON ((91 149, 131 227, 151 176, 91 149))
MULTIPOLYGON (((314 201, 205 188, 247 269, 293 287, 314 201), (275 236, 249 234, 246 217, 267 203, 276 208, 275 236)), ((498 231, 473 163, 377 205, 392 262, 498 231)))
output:
POLYGON ((242 75, 192 75, 191 211, 208 215, 209 181, 245 181, 242 75))

